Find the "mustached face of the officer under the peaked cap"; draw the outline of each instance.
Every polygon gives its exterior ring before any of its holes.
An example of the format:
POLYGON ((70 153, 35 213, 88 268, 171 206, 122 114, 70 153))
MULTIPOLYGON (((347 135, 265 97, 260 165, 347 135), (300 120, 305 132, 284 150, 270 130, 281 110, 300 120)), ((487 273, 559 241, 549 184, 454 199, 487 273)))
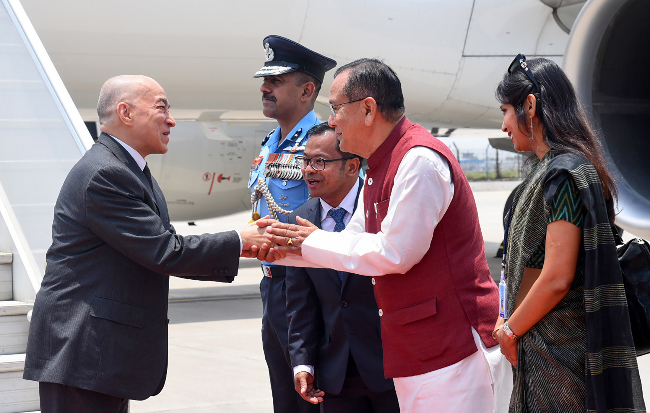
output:
POLYGON ((259 88, 262 92, 262 112, 267 118, 291 118, 291 114, 300 110, 302 85, 296 85, 294 73, 265 76, 259 88))

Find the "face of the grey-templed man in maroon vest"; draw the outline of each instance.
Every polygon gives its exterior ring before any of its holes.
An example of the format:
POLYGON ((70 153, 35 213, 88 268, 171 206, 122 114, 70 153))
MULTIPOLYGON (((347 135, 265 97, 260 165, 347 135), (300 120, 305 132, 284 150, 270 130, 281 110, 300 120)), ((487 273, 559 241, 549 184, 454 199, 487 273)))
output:
POLYGON ((334 107, 335 115, 330 114, 328 123, 334 128, 337 139, 341 142, 341 150, 343 152, 356 153, 363 157, 368 157, 372 151, 363 144, 367 142, 366 134, 367 127, 365 127, 365 110, 363 109, 363 101, 346 103, 350 101, 344 94, 343 88, 350 71, 339 73, 334 78, 330 87, 330 104, 334 107), (340 105, 340 106, 337 106, 340 105))

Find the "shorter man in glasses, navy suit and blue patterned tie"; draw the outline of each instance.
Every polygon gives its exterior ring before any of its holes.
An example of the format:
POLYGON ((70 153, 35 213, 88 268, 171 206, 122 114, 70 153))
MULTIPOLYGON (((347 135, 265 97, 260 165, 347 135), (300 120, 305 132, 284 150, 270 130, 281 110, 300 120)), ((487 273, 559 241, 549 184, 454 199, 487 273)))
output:
MULTIPOLYGON (((289 222, 296 224, 299 215, 322 230, 339 232, 352 219, 363 189, 361 157, 341 152, 327 123, 309 133, 298 165, 313 198, 293 211, 289 222)), ((289 354, 296 392, 322 403, 321 412, 399 412, 393 380, 383 375, 377 311, 369 277, 287 267, 289 354)))

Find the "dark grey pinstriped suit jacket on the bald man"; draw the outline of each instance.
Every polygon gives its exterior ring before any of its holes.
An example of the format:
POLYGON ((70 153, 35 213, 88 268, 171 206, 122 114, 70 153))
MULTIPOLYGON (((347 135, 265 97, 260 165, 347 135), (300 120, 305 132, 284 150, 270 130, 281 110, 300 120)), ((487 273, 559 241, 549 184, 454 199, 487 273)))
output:
POLYGON ((231 281, 240 243, 235 231, 176 235, 153 187, 105 133, 70 170, 54 209, 25 379, 136 400, 162 390, 169 276, 231 281))

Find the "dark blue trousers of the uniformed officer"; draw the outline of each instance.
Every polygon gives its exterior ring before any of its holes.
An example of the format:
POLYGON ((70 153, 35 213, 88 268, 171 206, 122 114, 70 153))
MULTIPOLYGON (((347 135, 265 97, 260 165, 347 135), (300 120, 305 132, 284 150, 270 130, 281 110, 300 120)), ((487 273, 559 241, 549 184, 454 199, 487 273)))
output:
POLYGON ((317 413, 318 405, 305 401, 295 390, 293 366, 289 358, 287 293, 285 277, 263 277, 259 284, 264 312, 262 347, 271 380, 274 413, 317 413))

